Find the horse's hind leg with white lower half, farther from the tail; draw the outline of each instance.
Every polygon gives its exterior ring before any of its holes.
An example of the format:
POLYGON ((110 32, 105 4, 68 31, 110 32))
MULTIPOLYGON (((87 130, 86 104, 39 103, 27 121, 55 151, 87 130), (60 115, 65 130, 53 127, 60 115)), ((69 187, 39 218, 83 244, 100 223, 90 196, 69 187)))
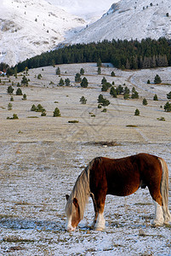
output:
POLYGON ((151 197, 155 206, 155 216, 153 218, 152 224, 155 226, 162 225, 164 223, 163 212, 162 212, 162 195, 160 193, 160 185, 153 185, 149 188, 151 197))

